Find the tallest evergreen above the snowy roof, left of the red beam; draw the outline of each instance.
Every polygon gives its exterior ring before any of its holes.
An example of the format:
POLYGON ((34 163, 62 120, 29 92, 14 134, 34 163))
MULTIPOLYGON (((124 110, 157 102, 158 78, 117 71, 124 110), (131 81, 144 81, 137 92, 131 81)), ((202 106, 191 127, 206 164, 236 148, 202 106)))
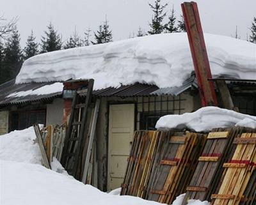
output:
POLYGON ((164 8, 168 5, 167 3, 161 5, 161 0, 155 0, 155 4, 148 4, 152 11, 154 12, 154 17, 152 18, 152 22, 149 24, 150 31, 148 34, 159 34, 163 33, 165 25, 163 24, 164 17, 166 16, 166 12, 163 13, 164 8))

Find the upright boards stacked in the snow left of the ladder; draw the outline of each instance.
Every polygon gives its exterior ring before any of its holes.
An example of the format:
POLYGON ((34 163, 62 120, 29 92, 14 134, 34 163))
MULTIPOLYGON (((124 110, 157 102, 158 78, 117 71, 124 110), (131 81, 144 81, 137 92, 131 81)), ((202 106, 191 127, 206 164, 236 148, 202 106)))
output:
POLYGON ((42 164, 51 169, 52 157, 58 161, 61 159, 67 125, 49 125, 41 130, 38 125, 34 125, 34 129, 42 153, 42 164))

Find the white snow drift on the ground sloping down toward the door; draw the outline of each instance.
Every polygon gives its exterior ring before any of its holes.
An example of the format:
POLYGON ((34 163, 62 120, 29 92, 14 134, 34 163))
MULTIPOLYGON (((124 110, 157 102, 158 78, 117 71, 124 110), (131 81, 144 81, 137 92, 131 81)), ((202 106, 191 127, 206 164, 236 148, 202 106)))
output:
MULTIPOLYGON (((0 204, 1 205, 146 205, 156 204, 139 197, 120 196, 100 192, 84 185, 67 172, 57 173, 40 165, 42 159, 33 127, 0 136, 0 204)), ((51 164, 56 171, 61 165, 51 164)), ((182 196, 175 205, 180 205, 182 196)), ((209 205, 190 201, 189 205, 209 205)))

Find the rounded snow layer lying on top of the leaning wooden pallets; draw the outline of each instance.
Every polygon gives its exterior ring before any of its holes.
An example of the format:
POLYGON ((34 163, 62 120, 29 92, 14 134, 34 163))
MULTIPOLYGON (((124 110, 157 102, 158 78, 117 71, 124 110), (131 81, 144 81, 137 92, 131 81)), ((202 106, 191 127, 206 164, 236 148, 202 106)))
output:
POLYGON ((163 116, 156 123, 156 128, 159 130, 189 128, 196 132, 210 131, 213 128, 231 126, 256 128, 256 116, 210 106, 202 107, 191 113, 163 116))

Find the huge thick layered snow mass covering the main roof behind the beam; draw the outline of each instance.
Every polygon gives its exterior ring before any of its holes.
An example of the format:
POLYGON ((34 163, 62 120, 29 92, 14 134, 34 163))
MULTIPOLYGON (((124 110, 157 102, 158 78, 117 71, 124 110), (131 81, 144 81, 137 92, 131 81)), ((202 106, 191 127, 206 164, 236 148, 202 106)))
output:
MULTIPOLYGON (((204 34, 214 76, 256 79, 256 45, 204 34)), ((16 83, 95 79, 95 89, 146 82, 180 86, 193 61, 186 33, 157 34, 119 42, 48 52, 29 58, 16 83)))

